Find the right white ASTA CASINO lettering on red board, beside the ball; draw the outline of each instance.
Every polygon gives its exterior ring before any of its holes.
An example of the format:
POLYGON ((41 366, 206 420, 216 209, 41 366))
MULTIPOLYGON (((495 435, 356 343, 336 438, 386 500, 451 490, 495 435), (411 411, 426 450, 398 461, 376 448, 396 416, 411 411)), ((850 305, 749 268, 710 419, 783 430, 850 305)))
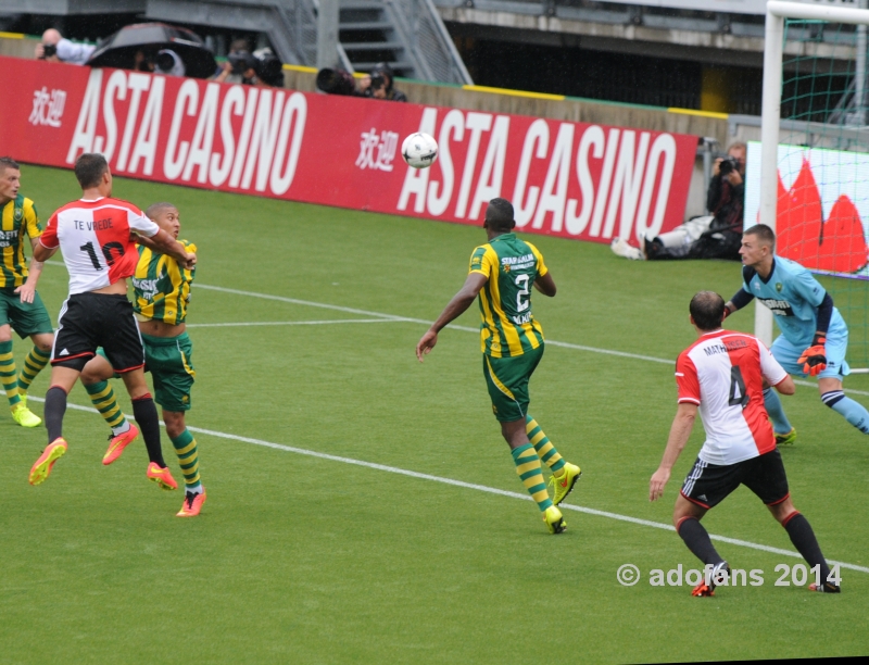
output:
POLYGON ((518 162, 507 164, 509 122, 506 115, 453 109, 438 131, 438 109, 425 109, 419 131, 438 136, 440 179, 431 168, 408 168, 398 211, 413 202, 415 213, 441 216, 458 183, 453 211, 457 218, 477 219, 490 199, 512 193, 518 228, 549 225, 553 233, 607 239, 660 230, 676 165, 672 135, 658 134, 653 140, 651 131, 597 125, 582 130, 575 123, 559 123, 553 138, 550 122, 539 118, 525 134, 518 162), (456 146, 465 149, 464 164, 455 163, 456 146), (504 174, 511 168, 516 176, 513 192, 503 192, 504 174), (571 190, 579 196, 571 198, 571 190))

